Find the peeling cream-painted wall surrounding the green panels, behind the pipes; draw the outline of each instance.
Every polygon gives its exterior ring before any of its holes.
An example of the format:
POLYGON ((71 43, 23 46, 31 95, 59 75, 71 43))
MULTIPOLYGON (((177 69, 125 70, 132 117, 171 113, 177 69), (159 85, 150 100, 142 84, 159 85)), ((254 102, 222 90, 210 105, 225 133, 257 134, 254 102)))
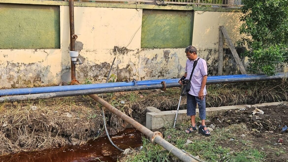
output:
MULTIPOLYGON (((57 84, 71 80, 68 3, 47 3, 64 4, 60 5, 60 49, 0 49, 0 87, 57 84)), ((128 8, 117 8, 116 4, 113 7, 84 7, 85 5, 84 2, 76 3, 74 7, 75 34, 78 35, 75 49, 80 51, 79 57, 83 61, 82 65, 76 65, 76 78, 81 83, 85 80, 93 83, 105 82, 115 55, 111 74, 117 75, 118 81, 183 75, 185 48, 141 49, 141 8, 129 8, 132 4, 125 4, 128 8)), ((153 8, 170 9, 160 7, 153 8)), ((191 9, 191 6, 181 8, 191 9)), ((199 56, 207 60, 209 75, 215 75, 217 71, 215 60, 218 55, 218 27, 226 26, 230 34, 237 32, 238 15, 238 12, 195 13, 192 44, 198 48, 199 56)), ((232 38, 236 40, 237 34, 233 34, 232 38)))

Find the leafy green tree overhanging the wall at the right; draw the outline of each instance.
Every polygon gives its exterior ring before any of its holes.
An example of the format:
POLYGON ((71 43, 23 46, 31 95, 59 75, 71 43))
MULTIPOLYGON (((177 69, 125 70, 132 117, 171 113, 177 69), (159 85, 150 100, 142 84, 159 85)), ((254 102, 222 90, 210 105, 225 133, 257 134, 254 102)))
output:
POLYGON ((242 0, 240 33, 253 72, 272 75, 288 63, 288 0, 242 0))

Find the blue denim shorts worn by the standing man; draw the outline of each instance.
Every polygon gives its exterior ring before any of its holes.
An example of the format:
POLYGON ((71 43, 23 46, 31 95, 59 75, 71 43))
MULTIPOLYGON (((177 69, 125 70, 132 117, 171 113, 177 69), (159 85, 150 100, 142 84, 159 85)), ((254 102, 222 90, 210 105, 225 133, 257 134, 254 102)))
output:
POLYGON ((204 99, 200 100, 198 96, 193 96, 187 93, 187 115, 193 116, 196 115, 196 105, 198 103, 199 108, 199 117, 201 120, 206 119, 206 96, 204 99))

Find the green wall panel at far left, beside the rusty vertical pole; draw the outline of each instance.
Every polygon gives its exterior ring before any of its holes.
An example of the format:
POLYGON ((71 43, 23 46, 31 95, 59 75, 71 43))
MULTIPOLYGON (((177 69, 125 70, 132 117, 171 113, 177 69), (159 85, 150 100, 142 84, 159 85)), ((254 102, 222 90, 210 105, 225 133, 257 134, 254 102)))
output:
POLYGON ((60 48, 60 7, 0 5, 0 48, 60 48))

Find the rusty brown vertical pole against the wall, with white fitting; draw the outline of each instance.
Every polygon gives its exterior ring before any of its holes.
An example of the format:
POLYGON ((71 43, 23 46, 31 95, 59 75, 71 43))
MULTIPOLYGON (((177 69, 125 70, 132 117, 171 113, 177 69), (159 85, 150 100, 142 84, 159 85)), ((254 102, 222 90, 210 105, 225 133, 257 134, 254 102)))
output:
MULTIPOLYGON (((75 37, 74 37, 74 0, 69 0, 69 18, 70 18, 70 51, 75 51, 75 37)), ((76 80, 75 65, 71 60, 71 80, 76 80)))

